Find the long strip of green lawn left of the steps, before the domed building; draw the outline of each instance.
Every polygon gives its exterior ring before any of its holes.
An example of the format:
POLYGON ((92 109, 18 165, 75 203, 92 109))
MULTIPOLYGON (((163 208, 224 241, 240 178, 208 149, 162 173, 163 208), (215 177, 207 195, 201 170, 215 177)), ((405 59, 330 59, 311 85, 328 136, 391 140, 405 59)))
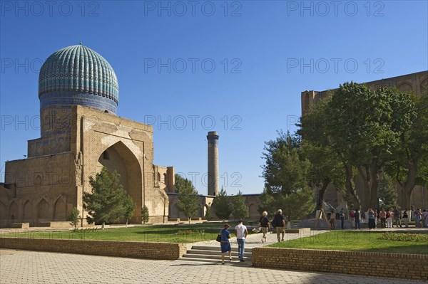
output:
MULTIPOLYGON (((235 223, 230 223, 235 226, 235 223)), ((3 233, 0 236, 16 238, 63 238, 106 241, 154 241, 168 243, 195 243, 215 241, 223 223, 199 223, 190 225, 138 226, 129 228, 84 228, 78 231, 46 231, 29 233, 3 233)), ((233 228, 233 227, 232 227, 233 228)), ((233 229, 229 229, 233 235, 233 229)), ((252 232, 249 232, 252 233, 252 232)))

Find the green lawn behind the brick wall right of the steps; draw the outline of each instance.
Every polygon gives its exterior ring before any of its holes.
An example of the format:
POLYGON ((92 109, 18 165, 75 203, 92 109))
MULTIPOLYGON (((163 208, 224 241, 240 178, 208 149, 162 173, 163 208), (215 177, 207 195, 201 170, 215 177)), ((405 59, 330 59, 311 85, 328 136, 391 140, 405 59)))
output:
POLYGON ((332 251, 428 254, 428 233, 331 231, 307 238, 275 243, 275 248, 308 248, 332 251))

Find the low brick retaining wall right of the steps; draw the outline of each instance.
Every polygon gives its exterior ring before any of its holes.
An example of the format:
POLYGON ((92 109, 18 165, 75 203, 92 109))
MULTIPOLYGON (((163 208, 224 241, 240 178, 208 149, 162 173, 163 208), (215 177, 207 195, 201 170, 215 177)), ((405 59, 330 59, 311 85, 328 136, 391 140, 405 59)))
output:
POLYGON ((253 248, 253 266, 428 280, 428 256, 360 251, 253 248))

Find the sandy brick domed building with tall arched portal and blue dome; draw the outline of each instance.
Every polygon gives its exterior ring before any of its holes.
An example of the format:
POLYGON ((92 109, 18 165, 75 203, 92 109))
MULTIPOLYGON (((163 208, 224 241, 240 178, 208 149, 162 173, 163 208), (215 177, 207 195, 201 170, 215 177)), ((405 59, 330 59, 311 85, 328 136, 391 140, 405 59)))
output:
POLYGON ((82 44, 53 53, 39 74, 41 137, 28 142, 26 159, 6 162, 0 184, 0 226, 63 226, 73 209, 83 212, 89 177, 102 167, 121 174, 121 184, 141 223, 168 219, 174 168, 153 164, 153 127, 118 117, 118 79, 100 54, 82 44))

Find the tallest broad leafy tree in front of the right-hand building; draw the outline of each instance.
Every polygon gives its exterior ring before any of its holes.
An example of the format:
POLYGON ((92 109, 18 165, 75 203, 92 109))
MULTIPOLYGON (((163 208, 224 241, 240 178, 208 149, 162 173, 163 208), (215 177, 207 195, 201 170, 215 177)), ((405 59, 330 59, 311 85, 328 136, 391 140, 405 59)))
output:
POLYGON ((352 168, 362 178, 365 209, 378 205, 378 174, 392 159, 399 135, 411 125, 409 103, 407 96, 387 88, 374 92, 365 84, 352 82, 340 85, 328 102, 326 135, 347 167, 345 186, 349 186, 352 168))

